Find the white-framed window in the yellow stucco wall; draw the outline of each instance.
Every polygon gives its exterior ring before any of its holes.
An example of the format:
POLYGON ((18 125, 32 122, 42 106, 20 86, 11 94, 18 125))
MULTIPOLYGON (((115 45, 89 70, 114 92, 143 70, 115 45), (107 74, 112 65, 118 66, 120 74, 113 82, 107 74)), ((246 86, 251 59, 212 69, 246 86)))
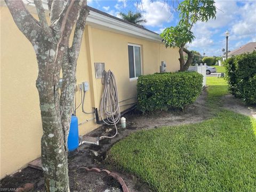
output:
POLYGON ((137 79, 141 75, 141 47, 128 44, 130 79, 137 79))

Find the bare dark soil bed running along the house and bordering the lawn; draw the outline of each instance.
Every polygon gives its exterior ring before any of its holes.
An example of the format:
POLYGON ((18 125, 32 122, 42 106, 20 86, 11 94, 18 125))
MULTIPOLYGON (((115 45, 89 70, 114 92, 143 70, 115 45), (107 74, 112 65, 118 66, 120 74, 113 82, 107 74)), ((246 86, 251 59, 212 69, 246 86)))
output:
MULTIPOLYGON (((134 175, 117 170, 115 167, 110 167, 105 161, 107 151, 114 143, 138 130, 204 121, 211 116, 210 110, 205 106, 206 95, 206 91, 204 90, 196 102, 188 107, 185 112, 158 111, 154 114, 143 115, 138 110, 132 110, 123 115, 126 118, 126 129, 122 129, 121 124, 117 124, 118 134, 115 138, 102 139, 99 142, 99 146, 86 144, 79 146, 76 151, 69 155, 70 191, 121 191, 120 186, 113 180, 109 180, 106 175, 81 171, 79 169, 80 167, 99 167, 100 169, 109 169, 109 171, 117 172, 123 178, 130 191, 154 191, 146 182, 140 181, 134 175)), ((114 134, 114 126, 102 125, 87 136, 100 137, 102 135, 110 136, 114 134)), ((21 173, 2 179, 1 188, 18 188, 29 182, 35 184, 35 191, 43 190, 42 171, 27 167, 21 173), (21 173, 23 176, 21 176, 21 173)))

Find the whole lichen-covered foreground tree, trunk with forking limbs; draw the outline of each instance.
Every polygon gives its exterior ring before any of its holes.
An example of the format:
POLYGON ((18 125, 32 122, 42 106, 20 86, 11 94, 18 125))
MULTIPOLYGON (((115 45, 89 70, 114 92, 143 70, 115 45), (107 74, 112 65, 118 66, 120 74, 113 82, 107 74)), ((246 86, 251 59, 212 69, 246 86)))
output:
POLYGON ((33 45, 38 77, 43 136, 42 169, 45 191, 69 191, 68 146, 71 110, 74 105, 76 63, 81 47, 85 21, 89 14, 86 1, 48 1, 51 26, 48 26, 41 0, 35 0, 39 21, 27 11, 22 0, 5 0, 20 31, 33 45), (73 43, 71 30, 76 23, 73 43), (60 70, 63 85, 59 98, 60 70))

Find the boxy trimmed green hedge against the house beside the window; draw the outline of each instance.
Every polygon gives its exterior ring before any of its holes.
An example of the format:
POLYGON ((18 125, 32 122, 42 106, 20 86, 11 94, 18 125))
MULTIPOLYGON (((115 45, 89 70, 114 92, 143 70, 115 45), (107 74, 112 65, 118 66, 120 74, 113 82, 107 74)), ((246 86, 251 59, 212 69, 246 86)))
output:
POLYGON ((184 109, 202 90, 203 76, 197 72, 144 75, 138 78, 138 108, 143 113, 170 108, 184 109))

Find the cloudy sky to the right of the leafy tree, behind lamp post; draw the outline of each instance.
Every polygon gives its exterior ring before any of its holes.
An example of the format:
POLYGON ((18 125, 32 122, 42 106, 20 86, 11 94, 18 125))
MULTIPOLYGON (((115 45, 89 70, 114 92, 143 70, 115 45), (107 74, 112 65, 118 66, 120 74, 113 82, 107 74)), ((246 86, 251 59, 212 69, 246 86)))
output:
POLYGON ((216 20, 197 22, 192 31, 196 37, 189 46, 207 55, 221 55, 226 49, 225 31, 230 31, 229 48, 232 51, 256 41, 255 1, 216 1, 216 20))

